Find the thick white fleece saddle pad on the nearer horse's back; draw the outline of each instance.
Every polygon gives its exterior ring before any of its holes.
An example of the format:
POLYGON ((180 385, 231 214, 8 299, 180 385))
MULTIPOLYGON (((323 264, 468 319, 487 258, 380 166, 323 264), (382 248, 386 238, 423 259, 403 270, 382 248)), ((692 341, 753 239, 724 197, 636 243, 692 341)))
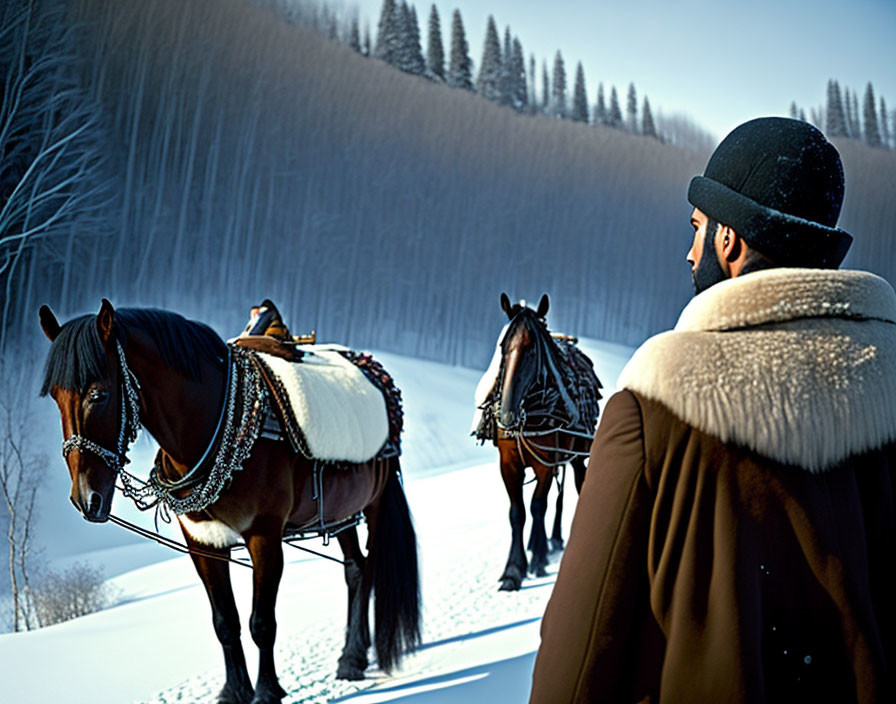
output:
POLYGON ((313 457, 365 462, 389 437, 386 402, 336 345, 302 345, 299 363, 259 353, 289 396, 313 457))

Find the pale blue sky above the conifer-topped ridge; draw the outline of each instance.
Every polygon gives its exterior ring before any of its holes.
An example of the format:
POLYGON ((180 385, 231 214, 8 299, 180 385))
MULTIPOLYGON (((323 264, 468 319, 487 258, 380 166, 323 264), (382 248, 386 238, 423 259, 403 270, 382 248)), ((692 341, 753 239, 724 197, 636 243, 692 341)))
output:
MULTIPOLYGON (((352 4, 347 0, 346 4, 352 4)), ((376 32, 382 0, 358 0, 376 32)), ((424 50, 431 2, 415 2, 424 50)), ((588 99, 597 83, 633 81, 639 103, 688 113, 718 138, 761 115, 784 115, 790 102, 823 103, 828 78, 864 96, 870 80, 896 108, 896 0, 454 0, 436 2, 448 51, 451 15, 460 9, 479 63, 486 21, 494 15, 519 36, 528 56, 549 66, 560 49, 569 84, 585 69, 588 99)), ((539 79, 539 90, 541 82, 539 79)), ((624 104, 623 104, 624 109, 624 104)))

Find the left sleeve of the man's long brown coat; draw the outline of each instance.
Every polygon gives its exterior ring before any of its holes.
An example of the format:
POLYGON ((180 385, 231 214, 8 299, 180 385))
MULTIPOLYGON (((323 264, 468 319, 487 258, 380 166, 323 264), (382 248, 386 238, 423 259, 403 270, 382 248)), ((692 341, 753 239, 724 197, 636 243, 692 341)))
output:
POLYGON ((653 492, 641 409, 631 392, 607 403, 591 447, 569 543, 541 626, 530 701, 649 701, 663 639, 647 572, 653 492))

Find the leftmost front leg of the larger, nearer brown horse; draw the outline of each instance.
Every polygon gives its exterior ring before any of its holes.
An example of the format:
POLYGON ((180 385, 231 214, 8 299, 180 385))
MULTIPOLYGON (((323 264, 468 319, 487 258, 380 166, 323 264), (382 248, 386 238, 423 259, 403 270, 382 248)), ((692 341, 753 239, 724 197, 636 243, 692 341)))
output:
MULTIPOLYGON (((207 553, 219 554, 221 558, 230 556, 230 549, 217 549, 194 541, 184 531, 184 538, 190 547, 207 553)), ((240 617, 230 586, 230 565, 222 560, 191 553, 193 566, 202 580, 212 607, 212 622, 215 634, 224 651, 224 668, 227 681, 218 695, 219 704, 249 704, 252 701, 252 682, 246 669, 246 657, 240 642, 240 617)))

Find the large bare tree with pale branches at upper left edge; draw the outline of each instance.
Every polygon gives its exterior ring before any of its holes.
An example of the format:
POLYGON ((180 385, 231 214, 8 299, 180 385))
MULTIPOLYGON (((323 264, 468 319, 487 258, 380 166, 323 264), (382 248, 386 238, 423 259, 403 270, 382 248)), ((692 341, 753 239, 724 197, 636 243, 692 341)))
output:
POLYGON ((10 312, 33 283, 23 264, 61 260, 75 219, 82 231, 101 232, 111 193, 99 112, 71 77, 64 10, 54 0, 0 5, 0 352, 10 312))

